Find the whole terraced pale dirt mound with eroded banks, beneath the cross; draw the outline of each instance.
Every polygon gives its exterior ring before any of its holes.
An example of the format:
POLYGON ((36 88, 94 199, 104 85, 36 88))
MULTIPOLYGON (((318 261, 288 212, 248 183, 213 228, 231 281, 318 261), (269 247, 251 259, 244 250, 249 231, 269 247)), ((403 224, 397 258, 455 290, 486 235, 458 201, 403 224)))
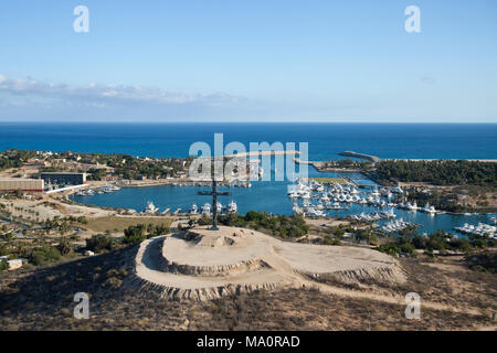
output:
POLYGON ((168 299, 211 300, 260 289, 325 287, 310 279, 327 274, 352 282, 405 280, 398 261, 383 253, 282 242, 226 226, 218 231, 199 226, 145 240, 135 261, 137 279, 168 299))

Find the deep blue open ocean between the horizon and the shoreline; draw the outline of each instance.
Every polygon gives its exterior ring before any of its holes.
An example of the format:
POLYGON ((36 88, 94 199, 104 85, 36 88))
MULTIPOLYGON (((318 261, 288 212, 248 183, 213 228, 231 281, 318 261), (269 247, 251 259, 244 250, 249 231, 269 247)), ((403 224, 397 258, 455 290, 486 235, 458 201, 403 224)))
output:
POLYGON ((308 142, 309 160, 347 150, 381 158, 497 158, 497 124, 0 122, 0 150, 186 157, 195 141, 212 146, 215 132, 224 135, 224 145, 240 141, 247 149, 248 142, 308 142))

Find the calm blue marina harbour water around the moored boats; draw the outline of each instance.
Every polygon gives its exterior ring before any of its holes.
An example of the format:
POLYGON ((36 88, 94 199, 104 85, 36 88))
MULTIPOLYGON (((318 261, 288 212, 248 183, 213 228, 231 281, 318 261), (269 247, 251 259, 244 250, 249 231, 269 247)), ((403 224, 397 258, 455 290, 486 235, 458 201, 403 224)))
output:
MULTIPOLYGON (((314 169, 309 170, 309 175, 315 176, 337 176, 336 173, 318 173, 314 169)), ((350 175, 350 174, 349 174, 350 175)), ((351 174, 352 179, 361 179, 360 174, 351 174)), ((369 181, 370 184, 374 182, 369 181)), ((237 203, 239 213, 245 214, 248 211, 265 211, 267 213, 292 215, 292 201, 287 197, 287 185, 289 182, 252 182, 252 188, 224 188, 220 186, 221 191, 230 191, 230 196, 220 196, 219 201, 226 205, 234 200, 237 203)), ((211 202, 210 196, 198 195, 198 191, 209 191, 207 186, 152 186, 152 188, 124 188, 118 192, 110 194, 95 194, 94 196, 73 196, 76 202, 87 205, 110 206, 133 208, 141 212, 148 201, 160 207, 160 212, 170 207, 171 212, 178 207, 182 207, 182 212, 187 212, 192 203, 195 203, 199 208, 202 204, 211 202)), ((363 191, 368 192, 367 190, 363 191)), ((379 208, 351 204, 349 210, 339 210, 328 212, 329 216, 346 217, 350 214, 360 214, 361 212, 371 213, 379 211, 379 208)), ((423 212, 408 212, 404 210, 395 210, 396 218, 420 224, 420 233, 434 233, 437 229, 445 229, 454 233, 455 226, 462 226, 464 223, 478 224, 479 222, 489 223, 490 217, 495 215, 479 214, 479 215, 452 215, 437 214, 429 215, 423 212)), ((382 224, 385 221, 379 221, 382 224)))

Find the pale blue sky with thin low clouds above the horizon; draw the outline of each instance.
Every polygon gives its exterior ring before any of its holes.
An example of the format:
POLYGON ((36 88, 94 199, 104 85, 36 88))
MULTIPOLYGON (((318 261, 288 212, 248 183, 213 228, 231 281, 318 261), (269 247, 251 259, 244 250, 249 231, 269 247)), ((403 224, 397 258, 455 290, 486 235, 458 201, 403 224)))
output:
POLYGON ((497 122, 495 0, 2 1, 0 39, 0 120, 497 122))

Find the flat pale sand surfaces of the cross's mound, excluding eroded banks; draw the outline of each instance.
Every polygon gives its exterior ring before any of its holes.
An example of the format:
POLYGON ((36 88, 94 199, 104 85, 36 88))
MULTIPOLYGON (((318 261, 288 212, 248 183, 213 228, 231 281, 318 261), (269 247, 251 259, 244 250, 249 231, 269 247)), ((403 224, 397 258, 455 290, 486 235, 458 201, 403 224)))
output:
POLYGON ((177 235, 144 242, 136 257, 138 277, 159 286, 180 289, 246 284, 305 286, 308 281, 299 272, 330 274, 364 268, 381 270, 398 266, 392 257, 366 248, 287 243, 260 232, 234 227, 220 227, 218 232, 201 227, 194 232, 202 237, 199 243, 187 242, 177 235), (233 243, 226 245, 222 242, 224 238, 233 243), (225 271, 223 276, 215 277, 171 274, 160 268, 160 258, 177 265, 225 268, 225 271), (268 267, 231 272, 231 268, 251 260, 262 260, 268 267))

